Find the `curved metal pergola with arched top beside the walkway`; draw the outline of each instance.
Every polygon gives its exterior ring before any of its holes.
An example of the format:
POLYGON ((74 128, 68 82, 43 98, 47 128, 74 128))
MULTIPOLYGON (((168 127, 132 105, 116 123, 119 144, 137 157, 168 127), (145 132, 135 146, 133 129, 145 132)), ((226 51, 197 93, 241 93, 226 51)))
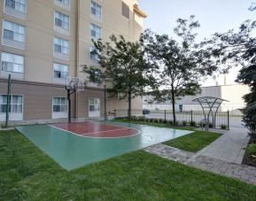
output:
POLYGON ((216 114, 222 104, 222 102, 229 102, 228 100, 219 98, 219 97, 198 97, 192 102, 198 102, 204 112, 205 121, 206 121, 206 131, 209 130, 209 118, 212 115, 213 118, 213 128, 215 128, 216 123, 216 114))

